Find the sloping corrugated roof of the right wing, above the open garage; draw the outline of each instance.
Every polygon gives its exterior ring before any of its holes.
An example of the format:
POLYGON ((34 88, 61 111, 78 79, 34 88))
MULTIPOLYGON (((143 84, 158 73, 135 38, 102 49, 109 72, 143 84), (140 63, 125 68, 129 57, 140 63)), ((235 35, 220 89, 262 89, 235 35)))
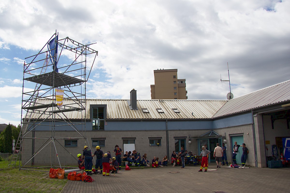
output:
POLYGON ((252 93, 233 98, 213 116, 213 118, 256 109, 259 107, 290 100, 290 80, 252 93))

